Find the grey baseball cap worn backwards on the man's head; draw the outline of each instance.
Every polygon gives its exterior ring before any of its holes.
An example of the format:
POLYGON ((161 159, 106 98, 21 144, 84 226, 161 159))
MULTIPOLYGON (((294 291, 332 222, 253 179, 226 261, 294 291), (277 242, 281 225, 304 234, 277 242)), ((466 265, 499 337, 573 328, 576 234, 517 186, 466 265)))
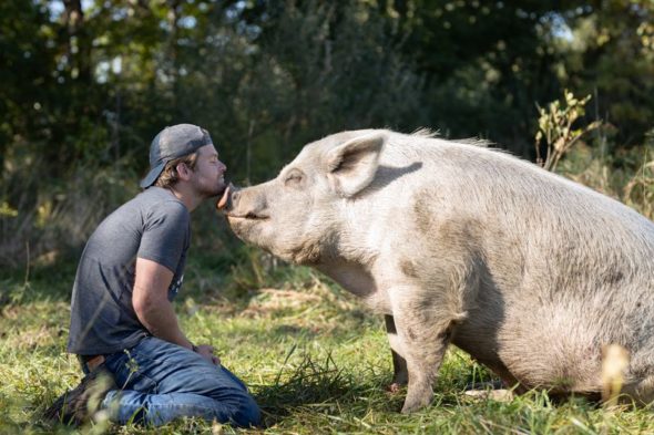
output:
POLYGON ((177 124, 165 127, 152 139, 150 145, 150 172, 141 180, 147 188, 156 182, 166 163, 195 153, 205 145, 213 145, 208 132, 193 124, 177 124))

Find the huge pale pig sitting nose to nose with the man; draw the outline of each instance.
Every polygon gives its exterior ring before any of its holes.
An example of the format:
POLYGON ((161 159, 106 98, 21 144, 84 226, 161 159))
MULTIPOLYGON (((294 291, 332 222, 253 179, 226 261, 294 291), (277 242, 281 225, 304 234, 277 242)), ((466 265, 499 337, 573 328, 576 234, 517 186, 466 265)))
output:
POLYGON ((450 343, 519 393, 590 397, 617 344, 623 393, 654 400, 654 224, 607 196, 483 144, 361 130, 222 205, 238 238, 385 315, 403 413, 450 343))

